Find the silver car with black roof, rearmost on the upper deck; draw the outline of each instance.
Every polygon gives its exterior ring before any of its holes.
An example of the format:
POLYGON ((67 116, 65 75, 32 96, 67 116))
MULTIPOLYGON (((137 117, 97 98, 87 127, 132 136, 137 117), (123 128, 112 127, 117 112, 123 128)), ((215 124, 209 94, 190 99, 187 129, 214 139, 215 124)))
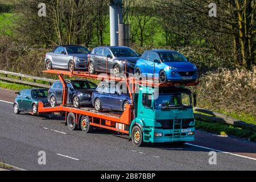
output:
POLYGON ((88 69, 90 51, 83 46, 57 46, 46 53, 46 69, 67 69, 69 71, 88 69))

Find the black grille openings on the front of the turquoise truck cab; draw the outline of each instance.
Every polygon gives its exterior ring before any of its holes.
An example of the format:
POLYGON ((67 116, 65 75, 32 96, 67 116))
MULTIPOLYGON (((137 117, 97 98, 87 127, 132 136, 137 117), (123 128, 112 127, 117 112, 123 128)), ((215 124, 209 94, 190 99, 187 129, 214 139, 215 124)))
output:
MULTIPOLYGON (((189 124, 191 122, 193 122, 194 119, 182 119, 182 129, 187 129, 189 128, 189 124)), ((161 125, 161 129, 180 129, 180 125, 175 125, 174 126, 174 120, 173 119, 168 119, 168 120, 158 120, 156 121, 157 123, 160 123, 161 125)), ((178 119, 176 124, 179 124, 181 122, 181 119, 178 119)), ((158 129, 159 127, 155 127, 156 129, 158 129)), ((159 128, 159 129, 160 129, 159 128)))

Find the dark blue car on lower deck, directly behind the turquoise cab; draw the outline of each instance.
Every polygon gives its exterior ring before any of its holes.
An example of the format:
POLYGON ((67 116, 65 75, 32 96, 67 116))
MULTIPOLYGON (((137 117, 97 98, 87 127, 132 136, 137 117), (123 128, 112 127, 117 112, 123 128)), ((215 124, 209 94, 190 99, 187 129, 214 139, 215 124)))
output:
POLYGON ((131 104, 131 98, 129 94, 123 93, 122 85, 105 82, 98 85, 93 92, 92 104, 97 111, 102 109, 124 111, 127 105, 131 104))

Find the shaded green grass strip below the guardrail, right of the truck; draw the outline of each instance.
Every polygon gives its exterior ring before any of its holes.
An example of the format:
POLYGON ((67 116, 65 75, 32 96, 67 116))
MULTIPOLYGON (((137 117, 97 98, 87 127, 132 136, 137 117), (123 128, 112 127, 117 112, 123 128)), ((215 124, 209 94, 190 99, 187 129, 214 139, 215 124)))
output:
POLYGON ((225 125, 222 123, 208 121, 196 121, 196 129, 223 136, 246 138, 252 142, 256 142, 256 133, 254 130, 241 129, 232 125, 225 125))

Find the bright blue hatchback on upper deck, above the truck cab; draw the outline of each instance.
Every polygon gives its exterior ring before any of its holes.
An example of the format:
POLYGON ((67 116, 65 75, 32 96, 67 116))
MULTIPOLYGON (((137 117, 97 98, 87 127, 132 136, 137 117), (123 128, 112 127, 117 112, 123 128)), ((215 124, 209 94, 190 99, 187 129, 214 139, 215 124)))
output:
POLYGON ((137 61, 134 72, 145 76, 152 76, 155 73, 160 82, 196 81, 198 78, 195 64, 190 63, 177 51, 162 49, 145 51, 137 61))

